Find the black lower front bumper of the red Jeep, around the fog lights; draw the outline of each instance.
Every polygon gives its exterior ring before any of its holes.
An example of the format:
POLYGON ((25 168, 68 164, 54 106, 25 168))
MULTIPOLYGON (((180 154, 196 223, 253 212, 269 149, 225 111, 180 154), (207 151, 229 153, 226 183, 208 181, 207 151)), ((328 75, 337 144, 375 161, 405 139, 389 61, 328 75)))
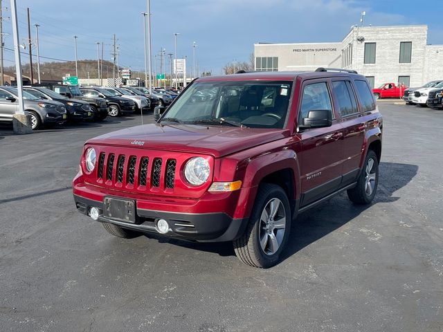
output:
POLYGON ((114 223, 122 228, 138 232, 160 234, 156 230, 155 223, 158 219, 165 219, 168 221, 170 231, 167 234, 161 235, 190 241, 233 241, 243 234, 248 223, 248 219, 233 219, 224 212, 185 213, 145 210, 141 208, 136 209, 136 222, 128 223, 103 216, 103 201, 94 201, 75 194, 74 201, 75 207, 82 214, 89 215, 91 207, 96 207, 100 210, 98 221, 114 223))

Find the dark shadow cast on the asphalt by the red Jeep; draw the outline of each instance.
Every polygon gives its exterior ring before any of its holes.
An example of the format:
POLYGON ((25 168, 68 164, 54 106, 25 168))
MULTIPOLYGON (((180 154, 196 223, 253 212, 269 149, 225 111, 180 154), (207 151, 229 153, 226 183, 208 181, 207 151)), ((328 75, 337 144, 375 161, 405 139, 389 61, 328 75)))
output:
MULTIPOLYGON (((294 255, 309 244, 325 237, 334 230, 341 228, 361 212, 377 203, 393 202, 400 199, 395 192, 406 186, 417 175, 418 166, 400 163, 380 163, 380 177, 377 195, 370 205, 356 205, 347 199, 346 192, 322 203, 316 208, 299 214, 292 222, 291 236, 280 257, 281 261, 294 255)), ((198 243, 180 239, 165 239, 155 234, 145 235, 150 239, 167 242, 183 248, 192 248, 206 252, 214 252, 220 256, 235 256, 231 242, 198 243)))

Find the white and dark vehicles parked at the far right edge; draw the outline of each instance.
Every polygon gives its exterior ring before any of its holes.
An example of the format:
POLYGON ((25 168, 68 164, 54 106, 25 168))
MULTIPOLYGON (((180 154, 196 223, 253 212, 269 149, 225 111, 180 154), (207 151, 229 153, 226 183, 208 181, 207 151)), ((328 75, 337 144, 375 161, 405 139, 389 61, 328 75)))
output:
POLYGON ((404 91, 403 100, 411 105, 442 108, 443 80, 431 81, 419 88, 408 88, 404 91))

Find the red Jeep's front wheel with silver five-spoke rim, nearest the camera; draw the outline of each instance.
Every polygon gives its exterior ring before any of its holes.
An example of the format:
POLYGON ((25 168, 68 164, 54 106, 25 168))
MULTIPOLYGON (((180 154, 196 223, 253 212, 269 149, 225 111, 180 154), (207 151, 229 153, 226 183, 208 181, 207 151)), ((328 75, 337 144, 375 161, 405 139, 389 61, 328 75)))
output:
POLYGON ((270 268, 278 263, 280 253, 284 250, 284 245, 287 242, 290 230, 291 208, 289 207, 289 200, 286 193, 282 187, 278 185, 262 183, 255 197, 255 203, 248 221, 248 226, 244 234, 242 234, 239 239, 233 241, 235 254, 244 264, 256 268, 270 268), (262 216, 269 216, 268 211, 271 212, 271 202, 274 202, 274 204, 279 202, 274 215, 278 215, 280 219, 277 220, 275 218, 276 220, 273 220, 272 217, 271 219, 264 218, 266 219, 266 222, 264 222, 262 216), (267 209, 268 207, 269 210, 267 209), (264 215, 265 212, 266 214, 264 215), (284 225, 282 226, 283 219, 284 225), (280 227, 275 229, 274 222, 275 225, 277 225, 278 221, 280 221, 280 227), (280 232, 281 230, 283 230, 283 232, 280 232), (271 234, 273 234, 273 237, 271 237, 271 234), (263 237, 261 235, 263 235, 263 237), (264 248, 260 243, 260 239, 264 239, 264 248), (280 241, 280 243, 278 243, 278 241, 280 241), (273 250, 273 243, 275 243, 277 250, 273 250))

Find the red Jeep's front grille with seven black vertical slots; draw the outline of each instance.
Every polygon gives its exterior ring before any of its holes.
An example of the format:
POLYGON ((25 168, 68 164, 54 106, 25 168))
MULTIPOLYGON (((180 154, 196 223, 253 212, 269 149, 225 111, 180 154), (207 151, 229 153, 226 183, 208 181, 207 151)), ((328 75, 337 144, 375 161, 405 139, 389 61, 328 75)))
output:
POLYGON ((172 190, 175 187, 177 160, 155 157, 150 163, 147 156, 128 156, 125 154, 106 154, 100 152, 98 157, 98 183, 130 186, 138 190, 142 187, 157 190, 172 190), (107 163, 105 163, 107 160, 107 163), (109 183, 110 182, 110 183, 109 183))

